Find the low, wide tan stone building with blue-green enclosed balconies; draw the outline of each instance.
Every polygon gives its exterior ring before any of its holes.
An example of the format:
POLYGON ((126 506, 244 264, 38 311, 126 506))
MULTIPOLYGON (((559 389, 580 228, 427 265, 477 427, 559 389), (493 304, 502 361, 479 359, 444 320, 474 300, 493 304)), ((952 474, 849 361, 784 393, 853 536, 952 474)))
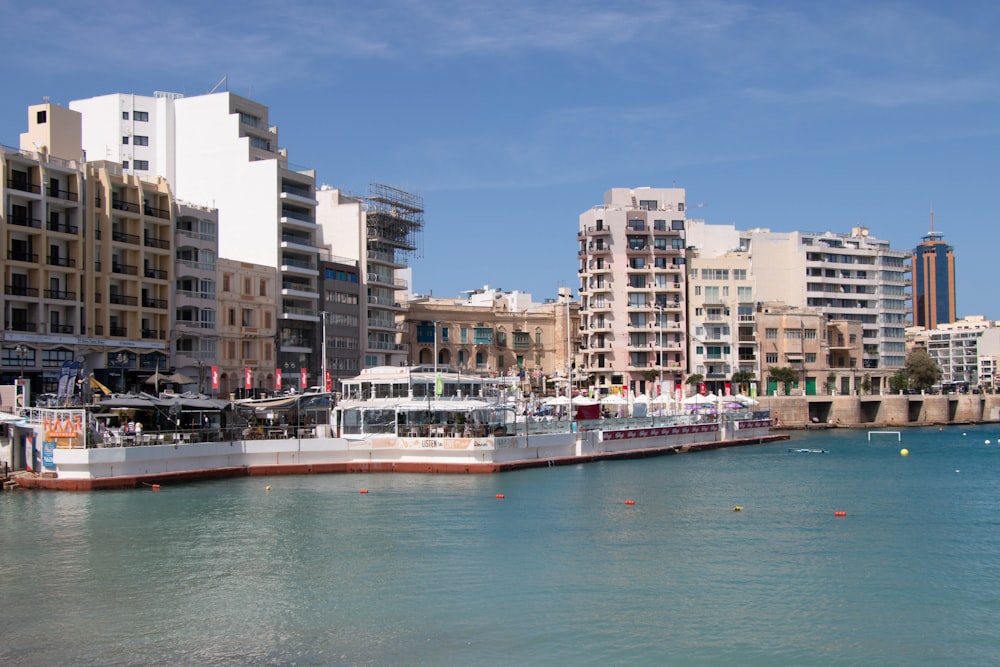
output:
MULTIPOLYGON (((570 300, 568 288, 559 299, 541 304, 518 296, 486 288, 466 299, 410 300, 402 328, 412 355, 408 363, 517 377, 525 391, 538 394, 565 391, 579 305, 570 300)), ((589 379, 574 370, 574 386, 586 386, 589 379)))

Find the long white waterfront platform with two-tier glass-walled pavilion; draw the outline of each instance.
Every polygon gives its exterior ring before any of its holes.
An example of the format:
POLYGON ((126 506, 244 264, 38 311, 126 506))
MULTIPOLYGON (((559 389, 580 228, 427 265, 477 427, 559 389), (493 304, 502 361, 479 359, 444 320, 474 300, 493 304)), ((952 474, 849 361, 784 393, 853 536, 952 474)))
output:
POLYGON ((72 419, 50 415, 47 425, 32 424, 33 441, 54 444, 35 459, 40 462, 37 472, 22 476, 19 483, 88 490, 238 475, 485 473, 788 438, 770 434, 766 412, 750 410, 711 420, 688 414, 532 417, 515 409, 506 388, 433 366, 365 369, 344 381, 343 388, 327 423, 280 433, 259 427, 215 429, 214 437, 196 432, 190 440, 163 444, 89 446, 86 428, 81 434, 70 427, 87 424, 86 414, 72 419))

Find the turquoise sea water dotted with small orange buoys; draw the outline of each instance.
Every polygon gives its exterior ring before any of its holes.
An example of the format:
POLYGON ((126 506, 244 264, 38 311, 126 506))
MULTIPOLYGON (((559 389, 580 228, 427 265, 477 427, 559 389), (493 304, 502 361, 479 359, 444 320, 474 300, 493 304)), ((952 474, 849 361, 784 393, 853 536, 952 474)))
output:
POLYGON ((0 494, 0 664, 1000 664, 998 441, 0 494))

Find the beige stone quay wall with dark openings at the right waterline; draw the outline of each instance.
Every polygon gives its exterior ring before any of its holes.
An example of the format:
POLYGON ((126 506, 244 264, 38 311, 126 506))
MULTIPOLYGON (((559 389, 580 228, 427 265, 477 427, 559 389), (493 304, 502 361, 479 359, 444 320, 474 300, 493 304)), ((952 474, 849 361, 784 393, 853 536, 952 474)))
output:
POLYGON ((1000 422, 998 394, 763 396, 779 428, 879 428, 1000 422))

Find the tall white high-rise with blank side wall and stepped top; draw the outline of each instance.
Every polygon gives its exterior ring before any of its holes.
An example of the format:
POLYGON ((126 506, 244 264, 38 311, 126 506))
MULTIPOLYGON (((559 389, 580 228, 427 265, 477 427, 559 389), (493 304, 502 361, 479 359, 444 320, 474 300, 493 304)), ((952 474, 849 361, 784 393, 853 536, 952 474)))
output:
MULTIPOLYGON (((162 175, 185 201, 218 209, 219 255, 274 267, 276 365, 319 378, 315 172, 292 167, 266 106, 229 92, 114 94, 70 103, 88 156, 162 175)), ((260 295, 270 296, 270 295, 260 295)))

